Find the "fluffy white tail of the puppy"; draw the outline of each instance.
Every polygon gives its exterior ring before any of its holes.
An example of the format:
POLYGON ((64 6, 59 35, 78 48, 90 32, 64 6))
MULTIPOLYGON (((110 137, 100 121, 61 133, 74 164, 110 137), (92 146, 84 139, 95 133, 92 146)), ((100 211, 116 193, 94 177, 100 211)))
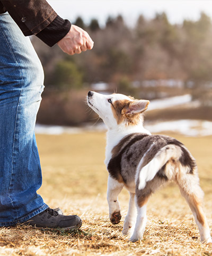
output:
MULTIPOLYGON (((148 152, 147 152, 148 153, 148 152)), ((154 158, 149 161, 148 164, 144 166, 145 158, 148 156, 144 156, 142 163, 140 164, 139 170, 139 185, 138 189, 142 190, 146 186, 148 181, 153 180, 155 175, 159 170, 163 170, 165 172, 165 166, 169 162, 169 160, 179 160, 182 155, 182 150, 179 146, 174 144, 169 144, 160 149, 154 158)))

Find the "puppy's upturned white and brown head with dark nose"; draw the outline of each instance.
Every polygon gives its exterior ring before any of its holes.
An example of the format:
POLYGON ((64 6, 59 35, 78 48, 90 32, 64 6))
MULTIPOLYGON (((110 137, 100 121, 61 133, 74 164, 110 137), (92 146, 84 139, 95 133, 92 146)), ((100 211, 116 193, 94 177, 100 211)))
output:
POLYGON ((148 100, 135 100, 118 93, 102 95, 93 91, 87 93, 87 103, 109 129, 117 125, 129 126, 143 122, 141 114, 149 105, 148 100))

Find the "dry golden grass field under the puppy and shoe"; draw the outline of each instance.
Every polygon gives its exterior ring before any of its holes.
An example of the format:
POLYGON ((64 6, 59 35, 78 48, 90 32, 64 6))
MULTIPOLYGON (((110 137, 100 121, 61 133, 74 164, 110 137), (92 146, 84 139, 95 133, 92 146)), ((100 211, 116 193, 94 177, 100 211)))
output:
MULTIPOLYGON (((212 136, 175 138, 197 159, 212 228, 212 136)), ((128 209, 126 190, 119 196, 122 219, 118 225, 110 223, 104 133, 37 135, 37 141, 43 172, 39 193, 50 207, 79 215, 83 226, 78 232, 1 228, 0 255, 212 255, 212 245, 200 243, 191 211, 173 183, 149 200, 142 241, 131 243, 121 233, 128 209)))

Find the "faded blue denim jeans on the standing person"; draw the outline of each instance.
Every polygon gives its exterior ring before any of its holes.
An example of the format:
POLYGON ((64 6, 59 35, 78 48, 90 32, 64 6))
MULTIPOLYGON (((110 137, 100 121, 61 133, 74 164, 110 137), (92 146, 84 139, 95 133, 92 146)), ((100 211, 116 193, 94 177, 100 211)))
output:
POLYGON ((30 42, 8 13, 0 15, 0 226, 23 223, 48 206, 34 135, 43 70, 30 42))

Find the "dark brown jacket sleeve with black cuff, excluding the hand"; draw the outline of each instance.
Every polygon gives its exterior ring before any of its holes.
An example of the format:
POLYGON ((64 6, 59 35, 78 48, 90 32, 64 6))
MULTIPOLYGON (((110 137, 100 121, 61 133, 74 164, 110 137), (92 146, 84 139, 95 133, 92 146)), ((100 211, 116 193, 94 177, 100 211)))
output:
POLYGON ((0 13, 8 12, 25 36, 36 35, 52 46, 70 29, 70 22, 61 19, 46 0, 2 0, 0 13))

